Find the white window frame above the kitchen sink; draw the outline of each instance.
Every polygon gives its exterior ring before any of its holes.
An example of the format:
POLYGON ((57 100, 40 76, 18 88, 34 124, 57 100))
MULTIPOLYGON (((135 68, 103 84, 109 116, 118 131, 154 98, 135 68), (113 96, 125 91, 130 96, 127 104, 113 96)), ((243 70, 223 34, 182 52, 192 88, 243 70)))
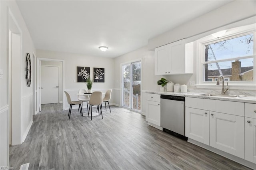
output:
MULTIPOLYGON (((236 58, 229 58, 229 59, 221 59, 218 60, 218 62, 222 61, 230 61, 230 60, 236 60, 236 59, 246 59, 246 58, 253 58, 253 81, 228 81, 228 86, 230 89, 246 89, 255 90, 256 88, 256 27, 255 24, 251 24, 249 26, 242 26, 238 28, 229 29, 228 32, 226 32, 226 35, 221 38, 214 38, 212 35, 206 36, 204 38, 201 38, 196 41, 196 54, 197 54, 197 81, 196 81, 196 87, 197 88, 215 88, 219 89, 219 86, 216 86, 216 81, 204 81, 204 64, 206 63, 216 63, 214 61, 204 61, 204 46, 221 42, 224 40, 229 40, 232 38, 237 38, 241 36, 245 36, 248 34, 253 34, 253 55, 248 55, 244 57, 236 57, 236 58)), ((226 83, 225 83, 226 84, 226 83)))

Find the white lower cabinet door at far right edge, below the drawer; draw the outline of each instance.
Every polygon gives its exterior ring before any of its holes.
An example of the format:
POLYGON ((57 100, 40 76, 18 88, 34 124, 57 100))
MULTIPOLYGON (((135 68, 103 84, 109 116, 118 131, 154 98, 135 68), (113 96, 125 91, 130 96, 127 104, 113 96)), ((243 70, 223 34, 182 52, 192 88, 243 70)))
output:
POLYGON ((256 164, 256 119, 244 119, 244 159, 256 164))

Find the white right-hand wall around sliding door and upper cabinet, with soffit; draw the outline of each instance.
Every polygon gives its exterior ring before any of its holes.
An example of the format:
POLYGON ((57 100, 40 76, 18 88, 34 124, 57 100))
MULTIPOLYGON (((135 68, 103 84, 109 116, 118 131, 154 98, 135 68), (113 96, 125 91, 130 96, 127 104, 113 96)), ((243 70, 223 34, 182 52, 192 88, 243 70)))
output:
MULTIPOLYGON (((161 77, 165 77, 169 81, 179 84, 186 84, 188 88, 196 88, 190 87, 190 81, 196 82, 196 50, 194 50, 194 74, 186 74, 186 75, 168 75, 168 76, 156 76, 154 75, 154 50, 155 47, 159 47, 161 45, 171 43, 182 38, 188 38, 187 40, 194 41, 198 38, 202 38, 203 36, 210 35, 214 32, 223 29, 223 25, 226 28, 233 28, 237 26, 242 26, 243 24, 252 24, 255 22, 255 12, 256 1, 234 1, 221 8, 218 8, 204 16, 200 16, 190 22, 183 24, 173 30, 170 30, 156 38, 153 38, 148 41, 147 47, 142 47, 135 51, 129 52, 125 55, 115 58, 115 101, 114 103, 120 105, 120 64, 142 58, 142 113, 145 112, 144 107, 144 94, 145 91, 159 91, 160 86, 157 85, 157 80, 161 77), (246 20, 240 21, 242 18, 248 18, 246 20), (232 24, 230 24, 232 23, 232 24), (211 30, 209 32, 206 32, 211 30)), ((196 43, 194 43, 194 49, 196 49, 196 43)))

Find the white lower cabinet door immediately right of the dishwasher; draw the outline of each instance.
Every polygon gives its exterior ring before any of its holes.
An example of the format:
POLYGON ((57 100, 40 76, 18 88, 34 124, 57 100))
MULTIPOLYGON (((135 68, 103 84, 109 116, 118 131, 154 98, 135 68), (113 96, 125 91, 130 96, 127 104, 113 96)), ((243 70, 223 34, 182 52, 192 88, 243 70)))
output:
POLYGON ((186 107, 185 136, 209 145, 209 111, 186 107))

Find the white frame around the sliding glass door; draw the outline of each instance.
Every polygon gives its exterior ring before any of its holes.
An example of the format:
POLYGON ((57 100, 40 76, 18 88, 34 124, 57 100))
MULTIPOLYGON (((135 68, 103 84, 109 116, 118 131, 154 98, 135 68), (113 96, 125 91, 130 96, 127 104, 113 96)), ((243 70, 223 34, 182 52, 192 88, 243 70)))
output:
MULTIPOLYGON (((138 58, 138 59, 134 59, 134 60, 131 60, 131 61, 126 61, 124 63, 120 63, 120 106, 125 108, 125 109, 128 109, 130 111, 134 111, 134 112, 137 112, 137 113, 140 113, 142 114, 142 58, 138 58), (139 62, 140 61, 140 64, 141 64, 141 70, 140 70, 140 111, 136 110, 136 109, 130 109, 128 107, 124 107, 122 105, 122 102, 123 102, 123 70, 122 70, 122 66, 125 65, 125 64, 132 64, 132 63, 136 63, 136 62, 139 62)), ((130 81, 130 87, 132 87, 132 81, 130 81)), ((131 92, 131 95, 132 96, 132 92, 131 92)), ((130 99, 131 100, 131 99, 130 99)), ((130 103, 132 105, 132 103, 130 103)))

